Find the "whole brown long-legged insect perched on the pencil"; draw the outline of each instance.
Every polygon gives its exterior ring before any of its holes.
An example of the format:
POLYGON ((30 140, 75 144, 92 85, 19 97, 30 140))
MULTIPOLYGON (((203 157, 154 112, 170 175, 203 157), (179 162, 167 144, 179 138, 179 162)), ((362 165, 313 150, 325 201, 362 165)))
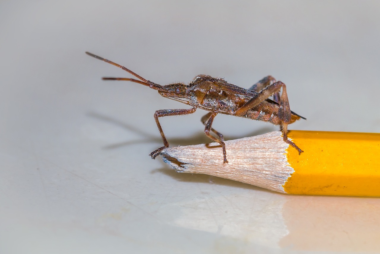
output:
POLYGON ((139 80, 133 78, 109 78, 104 77, 103 80, 125 80, 149 86, 158 91, 158 93, 174 101, 179 101, 190 105, 191 109, 163 109, 154 113, 154 119, 160 131, 164 146, 150 153, 150 157, 155 158, 163 149, 169 147, 165 134, 162 131, 159 117, 167 117, 169 115, 187 115, 194 113, 197 108, 209 111, 201 118, 202 123, 206 126, 204 133, 213 141, 222 145, 223 163, 228 163, 226 155, 226 146, 223 135, 211 127, 215 116, 218 113, 226 115, 234 115, 237 117, 246 117, 253 120, 268 121, 274 125, 280 125, 283 134, 283 140, 297 149, 298 153, 303 152, 299 147, 288 139, 288 124, 293 123, 299 118, 306 119, 290 110, 286 86, 281 81, 277 81, 272 76, 267 76, 258 81, 249 89, 227 83, 223 78, 213 78, 208 75, 198 75, 188 84, 174 83, 161 86, 152 81, 137 75, 135 72, 124 66, 101 58, 89 52, 89 56, 99 60, 113 64, 121 69, 131 73, 139 80), (280 96, 280 89, 282 93, 280 96), (273 96, 273 100, 268 99, 273 96), (215 133, 217 137, 210 134, 215 133))

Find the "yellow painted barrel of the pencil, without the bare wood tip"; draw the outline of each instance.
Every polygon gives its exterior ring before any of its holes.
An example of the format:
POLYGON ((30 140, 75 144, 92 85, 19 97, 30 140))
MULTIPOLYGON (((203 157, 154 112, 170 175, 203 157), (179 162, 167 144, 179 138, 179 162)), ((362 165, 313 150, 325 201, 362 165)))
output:
POLYGON ((380 134, 290 131, 289 194, 380 196, 380 134))

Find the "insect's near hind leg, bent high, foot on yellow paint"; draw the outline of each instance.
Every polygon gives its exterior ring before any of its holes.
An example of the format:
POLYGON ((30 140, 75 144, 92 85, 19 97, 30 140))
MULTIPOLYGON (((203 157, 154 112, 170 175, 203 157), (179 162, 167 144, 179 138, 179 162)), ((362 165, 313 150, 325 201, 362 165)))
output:
POLYGON ((274 93, 278 93, 280 89, 282 88, 282 94, 279 101, 279 111, 277 113, 277 116, 281 120, 281 131, 283 134, 283 140, 287 142, 289 145, 297 149, 298 153, 301 154, 303 152, 299 147, 288 140, 288 124, 291 120, 291 111, 289 106, 289 100, 288 100, 288 94, 286 92, 286 85, 282 83, 281 81, 277 81, 273 83, 272 85, 267 86, 264 88, 256 97, 253 97, 249 101, 247 101, 244 105, 242 105, 239 109, 236 110, 235 115, 242 115, 247 110, 252 109, 256 105, 258 105, 260 102, 267 99, 269 96, 271 96, 274 93))

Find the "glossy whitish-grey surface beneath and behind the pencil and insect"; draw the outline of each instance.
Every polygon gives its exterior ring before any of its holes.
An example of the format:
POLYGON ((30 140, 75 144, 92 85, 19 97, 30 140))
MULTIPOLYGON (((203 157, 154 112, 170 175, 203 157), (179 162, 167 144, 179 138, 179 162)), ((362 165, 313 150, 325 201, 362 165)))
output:
MULTIPOLYGON (((377 1, 2 1, 1 253, 379 252, 380 199, 290 196, 178 174, 148 154, 153 113, 184 107, 133 83, 205 73, 287 84, 290 129, 379 132, 377 1)), ((171 145, 209 142, 193 115, 171 145)), ((277 130, 218 116, 226 139, 277 130)))

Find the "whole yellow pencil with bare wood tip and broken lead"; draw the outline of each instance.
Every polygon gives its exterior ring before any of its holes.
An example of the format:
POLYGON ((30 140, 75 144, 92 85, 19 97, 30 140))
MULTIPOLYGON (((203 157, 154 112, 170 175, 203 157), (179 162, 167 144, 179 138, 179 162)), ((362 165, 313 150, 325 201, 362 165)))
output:
POLYGON ((170 147, 161 158, 178 172, 222 177, 288 194, 380 196, 380 134, 280 131, 219 144, 170 147))

